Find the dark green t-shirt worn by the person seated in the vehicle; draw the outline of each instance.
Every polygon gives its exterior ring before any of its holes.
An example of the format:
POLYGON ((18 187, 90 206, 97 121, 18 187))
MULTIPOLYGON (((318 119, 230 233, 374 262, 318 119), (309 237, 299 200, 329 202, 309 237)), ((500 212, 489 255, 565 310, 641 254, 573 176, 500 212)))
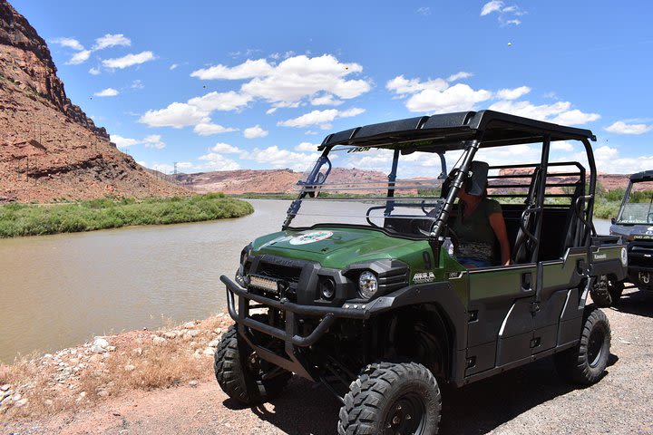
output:
POLYGON ((455 246, 455 256, 458 258, 477 258, 498 265, 495 247, 497 237, 490 225, 490 215, 502 213, 499 202, 490 198, 482 198, 479 205, 467 218, 463 218, 463 210, 459 210, 453 223, 453 231, 458 237, 455 246))

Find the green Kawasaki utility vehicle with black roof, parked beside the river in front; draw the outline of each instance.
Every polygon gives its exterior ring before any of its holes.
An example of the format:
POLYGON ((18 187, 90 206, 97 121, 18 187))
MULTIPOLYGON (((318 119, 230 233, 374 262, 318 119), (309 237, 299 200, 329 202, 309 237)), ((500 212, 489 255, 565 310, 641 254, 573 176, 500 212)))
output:
POLYGON ((550 355, 567 380, 598 382, 609 322, 585 301, 599 276, 625 277, 627 257, 619 237, 593 229, 590 140, 496 111, 330 134, 281 231, 242 250, 235 280, 220 277, 236 324, 215 355, 219 385, 252 405, 295 373, 342 402, 340 434, 433 434, 443 383, 550 355), (550 161, 560 140, 580 144, 587 168, 550 161), (474 162, 497 156, 535 160, 489 167, 511 264, 468 269, 456 259, 456 197, 474 162), (338 167, 379 170, 352 179, 338 167))

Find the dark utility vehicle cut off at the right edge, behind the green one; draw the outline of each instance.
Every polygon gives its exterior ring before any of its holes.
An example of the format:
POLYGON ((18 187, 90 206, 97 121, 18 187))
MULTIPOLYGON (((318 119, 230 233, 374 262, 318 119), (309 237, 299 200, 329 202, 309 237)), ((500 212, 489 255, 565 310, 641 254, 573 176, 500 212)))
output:
MULTIPOLYGON (((642 290, 653 290, 653 170, 630 176, 610 234, 628 242, 627 280, 642 290)), ((610 276, 592 299, 601 306, 617 304, 622 291, 623 283, 610 276)))

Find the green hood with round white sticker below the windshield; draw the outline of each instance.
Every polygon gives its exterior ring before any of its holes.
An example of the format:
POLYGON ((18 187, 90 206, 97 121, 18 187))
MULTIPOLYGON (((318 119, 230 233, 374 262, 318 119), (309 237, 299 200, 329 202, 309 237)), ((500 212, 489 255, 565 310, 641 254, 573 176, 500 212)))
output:
POLYGON ((381 258, 396 258, 410 265, 422 258, 422 251, 431 250, 425 240, 390 237, 382 231, 352 227, 280 231, 258 237, 252 247, 255 255, 303 259, 333 268, 381 258))

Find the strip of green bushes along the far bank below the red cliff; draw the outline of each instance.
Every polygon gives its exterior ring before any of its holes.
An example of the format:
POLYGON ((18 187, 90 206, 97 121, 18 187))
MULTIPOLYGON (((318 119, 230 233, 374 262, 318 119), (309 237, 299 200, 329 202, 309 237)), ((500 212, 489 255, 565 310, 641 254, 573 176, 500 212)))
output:
POLYGON ((142 225, 240 218, 254 208, 221 193, 173 198, 102 198, 0 206, 0 237, 42 236, 142 225))

